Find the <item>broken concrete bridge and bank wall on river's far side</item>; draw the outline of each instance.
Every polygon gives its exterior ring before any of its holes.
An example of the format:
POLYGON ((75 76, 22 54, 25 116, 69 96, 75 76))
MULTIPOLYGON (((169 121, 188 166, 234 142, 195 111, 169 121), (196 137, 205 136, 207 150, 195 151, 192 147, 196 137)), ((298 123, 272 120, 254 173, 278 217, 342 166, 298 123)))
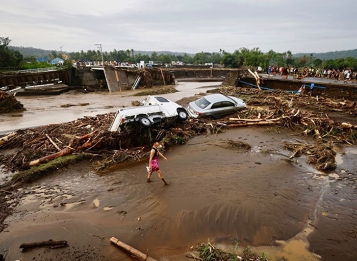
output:
MULTIPOLYGON (((41 70, 18 71, 0 74, 0 88, 25 87, 61 83, 69 88, 83 87, 87 90, 106 88, 110 92, 131 89, 140 79, 137 88, 150 88, 154 85, 174 85, 175 79, 199 81, 200 79, 223 80, 231 69, 216 68, 123 68, 117 66, 93 66, 91 68, 47 68, 41 70)), ((62 90, 61 90, 62 91, 62 90)), ((26 95, 29 92, 23 92, 26 95)), ((37 93, 37 92, 36 92, 37 93)), ((52 92, 54 93, 54 92, 52 92)), ((48 91, 43 94, 52 94, 48 91)))

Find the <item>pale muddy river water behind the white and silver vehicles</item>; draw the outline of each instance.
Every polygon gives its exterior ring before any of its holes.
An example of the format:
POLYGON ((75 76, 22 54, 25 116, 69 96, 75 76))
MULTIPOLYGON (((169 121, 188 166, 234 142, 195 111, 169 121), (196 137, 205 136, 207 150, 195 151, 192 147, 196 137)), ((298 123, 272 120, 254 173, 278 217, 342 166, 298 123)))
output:
MULTIPOLYGON (((195 93, 217 88, 220 84, 221 82, 179 82, 179 85, 176 86, 179 92, 163 94, 162 96, 176 101, 184 97, 193 96, 195 93)), ((0 114, 0 134, 19 128, 62 123, 84 116, 115 112, 124 106, 132 106, 132 101, 144 99, 146 96, 132 96, 140 91, 143 91, 143 89, 116 93, 95 92, 83 94, 80 92, 68 92, 56 96, 18 96, 16 99, 23 104, 27 111, 0 114), (80 103, 88 103, 88 105, 61 107, 63 105, 79 105, 80 103)))

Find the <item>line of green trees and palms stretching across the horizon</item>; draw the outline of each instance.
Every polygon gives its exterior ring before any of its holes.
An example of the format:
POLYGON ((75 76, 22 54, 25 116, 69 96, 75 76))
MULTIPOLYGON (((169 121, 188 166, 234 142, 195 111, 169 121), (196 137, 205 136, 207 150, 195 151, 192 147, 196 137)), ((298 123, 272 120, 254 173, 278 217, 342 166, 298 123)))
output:
MULTIPOLYGON (((37 63, 35 56, 22 57, 19 50, 9 48, 11 40, 7 37, 0 37, 0 68, 20 67, 27 69, 49 66, 46 62, 37 63)), ((99 50, 87 50, 77 52, 61 53, 55 50, 47 51, 48 60, 56 57, 65 57, 74 61, 101 61, 101 53, 99 50)), ((220 49, 217 52, 201 52, 194 55, 191 54, 158 54, 156 51, 150 54, 141 54, 134 49, 104 51, 104 61, 129 62, 139 63, 140 61, 154 62, 155 64, 171 64, 172 62, 182 62, 189 65, 203 65, 206 63, 221 64, 226 68, 243 68, 243 67, 261 67, 267 70, 270 65, 284 67, 313 67, 313 68, 335 68, 344 69, 351 68, 357 70, 357 59, 353 57, 326 59, 322 60, 311 55, 303 55, 294 57, 290 50, 284 53, 276 53, 274 50, 269 50, 263 53, 258 47, 253 49, 239 48, 233 53, 220 49)))

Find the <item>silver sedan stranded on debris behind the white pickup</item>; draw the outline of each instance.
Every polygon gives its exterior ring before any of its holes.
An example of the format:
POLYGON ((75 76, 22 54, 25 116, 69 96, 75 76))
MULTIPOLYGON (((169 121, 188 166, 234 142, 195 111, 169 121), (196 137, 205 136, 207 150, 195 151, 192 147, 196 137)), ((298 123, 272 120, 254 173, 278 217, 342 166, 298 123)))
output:
POLYGON ((190 102, 187 112, 193 118, 200 116, 219 118, 233 114, 246 107, 245 102, 239 98, 217 93, 206 95, 190 102))

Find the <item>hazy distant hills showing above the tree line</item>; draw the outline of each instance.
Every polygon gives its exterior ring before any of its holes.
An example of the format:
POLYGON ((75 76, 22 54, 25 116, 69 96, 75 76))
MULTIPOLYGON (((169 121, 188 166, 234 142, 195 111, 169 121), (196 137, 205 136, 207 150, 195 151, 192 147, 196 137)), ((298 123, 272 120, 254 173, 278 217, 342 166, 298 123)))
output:
MULTIPOLYGON (((38 48, 33 48, 33 47, 17 47, 17 46, 9 46, 11 49, 18 50, 20 54, 23 57, 29 57, 29 56, 34 56, 35 58, 40 58, 40 57, 45 57, 49 56, 53 51, 56 51, 59 53, 57 50, 43 50, 43 49, 38 49, 38 48)), ((68 52, 64 52, 68 53, 68 52)), ((154 51, 140 51, 140 50, 134 50, 134 55, 136 54, 142 54, 142 55, 148 55, 151 56, 151 54, 154 53, 154 51)), ((174 55, 174 56, 184 56, 187 54, 188 56, 195 56, 195 54, 189 54, 189 53, 179 53, 175 51, 156 51, 157 55, 174 55)), ((357 49, 353 50, 344 50, 344 51, 329 51, 327 53, 298 53, 298 54, 293 54, 293 57, 301 57, 301 56, 310 56, 313 55, 314 57, 321 59, 321 60, 329 60, 329 59, 337 59, 337 58, 346 58, 346 57, 353 57, 357 58, 357 49)))

